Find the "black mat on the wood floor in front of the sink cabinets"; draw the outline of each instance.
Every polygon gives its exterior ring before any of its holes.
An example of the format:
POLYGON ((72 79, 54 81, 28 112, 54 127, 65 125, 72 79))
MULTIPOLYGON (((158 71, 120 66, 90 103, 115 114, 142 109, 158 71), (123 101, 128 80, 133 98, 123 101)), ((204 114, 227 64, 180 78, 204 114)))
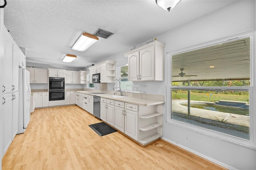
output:
POLYGON ((106 134, 110 134, 113 132, 117 132, 116 129, 108 126, 106 123, 101 122, 101 123, 95 123, 92 125, 89 125, 90 128, 92 128, 92 130, 94 130, 98 135, 100 136, 104 136, 106 134))

